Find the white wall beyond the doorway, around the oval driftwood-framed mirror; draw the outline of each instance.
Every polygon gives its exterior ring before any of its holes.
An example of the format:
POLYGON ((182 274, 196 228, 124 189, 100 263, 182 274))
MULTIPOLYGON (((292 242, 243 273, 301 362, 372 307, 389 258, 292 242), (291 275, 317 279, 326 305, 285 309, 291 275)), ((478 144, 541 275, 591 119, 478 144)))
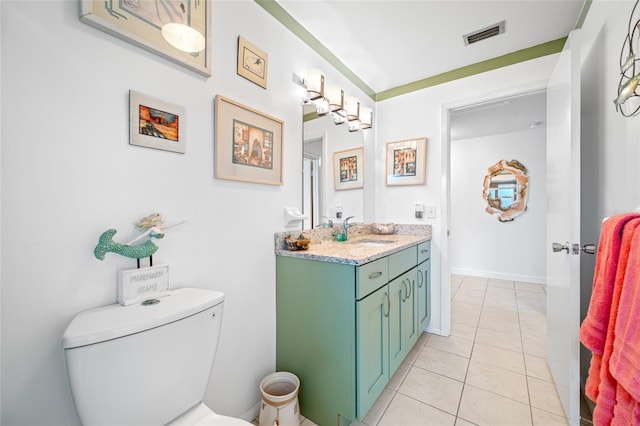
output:
POLYGON ((451 272, 544 283, 546 275, 546 129, 451 142, 451 272), (485 211, 487 168, 500 160, 527 168, 527 210, 511 222, 485 211))

